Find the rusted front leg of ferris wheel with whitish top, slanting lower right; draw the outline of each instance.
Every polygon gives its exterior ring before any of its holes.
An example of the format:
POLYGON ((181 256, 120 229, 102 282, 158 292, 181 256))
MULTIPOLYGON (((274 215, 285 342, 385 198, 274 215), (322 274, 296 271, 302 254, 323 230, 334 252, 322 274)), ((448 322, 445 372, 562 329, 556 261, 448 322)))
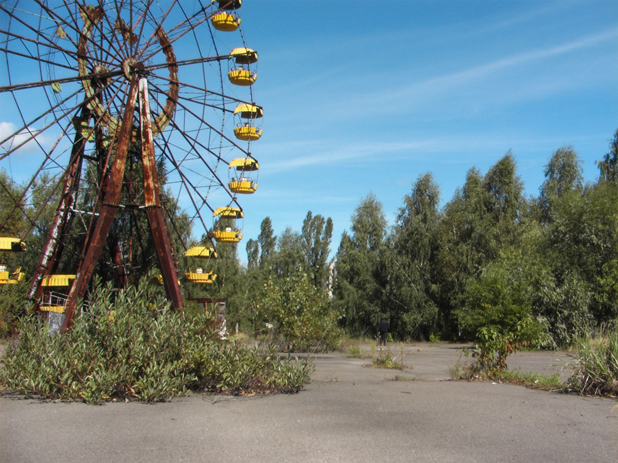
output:
POLYGON ((163 276, 163 286, 172 302, 172 307, 182 309, 182 295, 172 247, 168 237, 165 220, 161 212, 159 197, 159 182, 157 181, 157 163, 155 163, 155 143, 152 141, 152 125, 150 124, 150 101, 148 100, 148 81, 145 77, 139 79, 139 119, 141 122, 141 160, 143 164, 143 190, 146 216, 150 224, 150 233, 155 241, 159 268, 163 276))

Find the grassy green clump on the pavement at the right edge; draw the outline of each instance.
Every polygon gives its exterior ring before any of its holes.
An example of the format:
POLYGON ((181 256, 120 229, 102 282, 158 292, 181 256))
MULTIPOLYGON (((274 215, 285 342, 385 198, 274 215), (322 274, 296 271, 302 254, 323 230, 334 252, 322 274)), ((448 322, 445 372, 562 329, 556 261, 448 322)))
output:
POLYGON ((577 350, 568 390, 587 395, 618 395, 618 329, 608 330, 598 344, 591 338, 580 341, 577 350))

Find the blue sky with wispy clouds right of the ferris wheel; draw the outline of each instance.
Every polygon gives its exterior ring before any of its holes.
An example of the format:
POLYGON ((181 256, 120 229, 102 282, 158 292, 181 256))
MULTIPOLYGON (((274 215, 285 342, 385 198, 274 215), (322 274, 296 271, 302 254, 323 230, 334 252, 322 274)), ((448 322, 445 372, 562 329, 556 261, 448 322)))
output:
POLYGON ((265 114, 244 243, 266 216, 280 234, 311 210, 335 223, 332 257, 369 192, 392 225, 420 174, 443 205, 508 150, 528 196, 564 145, 594 181, 618 128, 616 1, 246 0, 241 14, 265 114))

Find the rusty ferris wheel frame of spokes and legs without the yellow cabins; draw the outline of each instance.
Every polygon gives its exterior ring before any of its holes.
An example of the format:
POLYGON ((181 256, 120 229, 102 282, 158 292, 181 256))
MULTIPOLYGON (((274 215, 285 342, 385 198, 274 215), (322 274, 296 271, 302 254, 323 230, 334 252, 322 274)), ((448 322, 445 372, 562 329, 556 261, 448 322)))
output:
MULTIPOLYGON (((21 121, 8 136, 0 136, 0 161, 17 158, 32 147, 43 154, 43 161, 32 167, 23 196, 13 198, 8 217, 28 218, 30 228, 24 234, 36 229, 51 198, 43 198, 41 207, 25 204, 34 203, 32 188, 43 172, 54 172, 54 192, 59 196, 32 276, 32 300, 41 298, 43 278, 67 259, 63 253, 71 229, 81 223, 84 231, 61 331, 70 328, 106 244, 115 278, 126 284, 122 246, 113 232, 117 212, 123 208, 146 212, 166 294, 172 307, 181 309, 170 223, 159 191, 162 165, 168 165, 164 175, 177 185, 175 199, 183 197, 192 205, 191 223, 199 223, 204 231, 209 229, 208 213, 215 211, 209 202, 213 191, 217 200, 241 210, 218 167, 227 169, 230 156, 252 159, 249 142, 241 146, 226 134, 226 119, 239 103, 252 105, 253 95, 250 88, 248 99, 226 93, 222 63, 230 54, 219 51, 208 21, 221 11, 235 10, 240 2, 195 4, 194 12, 173 0, 166 9, 152 0, 0 4, 4 17, 0 47, 6 66, 0 95, 14 102, 11 115, 21 121), (208 50, 202 50, 204 37, 210 41, 208 50), (181 45, 186 42, 190 46, 181 45), (26 63, 36 63, 32 70, 38 75, 24 72, 21 66, 26 63), (213 69, 214 80, 207 72, 213 69), (129 204, 123 203, 121 190, 127 188, 128 152, 135 146, 142 169, 139 185, 129 183, 135 190, 129 204), (83 187, 92 183, 86 178, 86 166, 96 172, 97 193, 90 210, 78 204, 83 187)), ((10 193, 6 185, 0 187, 10 193)))

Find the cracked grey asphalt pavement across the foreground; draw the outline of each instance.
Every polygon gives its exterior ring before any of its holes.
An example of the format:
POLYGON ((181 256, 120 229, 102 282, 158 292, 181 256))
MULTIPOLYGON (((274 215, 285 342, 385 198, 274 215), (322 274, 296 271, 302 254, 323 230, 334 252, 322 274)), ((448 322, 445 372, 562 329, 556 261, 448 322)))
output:
MULTIPOLYGON (((618 402, 452 382, 459 346, 406 344, 404 370, 314 356, 295 395, 192 395, 163 404, 0 398, 1 462, 613 462, 618 402), (397 380, 394 380, 396 377, 397 380)), ((399 356, 401 347, 387 349, 399 356)), ((367 349, 369 349, 367 347, 367 349)), ((364 351, 364 347, 363 347, 364 351)), ((368 353, 370 351, 368 350, 368 353)), ((560 372, 566 354, 511 368, 560 372)))

